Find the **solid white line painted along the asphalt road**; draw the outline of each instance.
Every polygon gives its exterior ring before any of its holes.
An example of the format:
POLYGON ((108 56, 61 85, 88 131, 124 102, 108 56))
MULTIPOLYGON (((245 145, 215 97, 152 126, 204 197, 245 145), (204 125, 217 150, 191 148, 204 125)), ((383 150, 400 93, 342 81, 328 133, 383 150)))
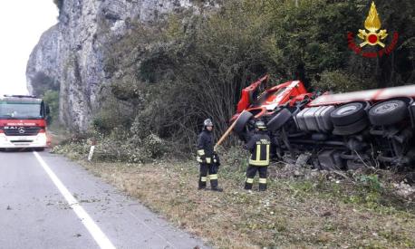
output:
POLYGON ((61 194, 68 202, 69 206, 72 207, 73 212, 81 219, 82 224, 85 225, 88 232, 92 235, 95 242, 101 247, 105 249, 115 249, 115 246, 111 243, 110 239, 101 231, 101 228, 95 224, 92 220, 91 216, 86 213, 83 207, 78 203, 78 201, 72 196, 69 192, 68 188, 66 188, 62 181, 56 177, 53 173, 52 169, 44 162, 43 158, 34 151, 34 156, 37 158, 41 166, 43 167, 44 171, 51 177, 54 185, 61 191, 61 194))

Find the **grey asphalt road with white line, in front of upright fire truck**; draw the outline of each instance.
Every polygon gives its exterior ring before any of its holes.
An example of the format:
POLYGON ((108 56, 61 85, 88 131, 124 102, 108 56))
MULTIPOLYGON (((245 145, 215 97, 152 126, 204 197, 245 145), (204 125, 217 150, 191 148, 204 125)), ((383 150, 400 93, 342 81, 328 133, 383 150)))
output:
POLYGON ((196 246, 206 248, 66 158, 0 152, 2 249, 196 246))

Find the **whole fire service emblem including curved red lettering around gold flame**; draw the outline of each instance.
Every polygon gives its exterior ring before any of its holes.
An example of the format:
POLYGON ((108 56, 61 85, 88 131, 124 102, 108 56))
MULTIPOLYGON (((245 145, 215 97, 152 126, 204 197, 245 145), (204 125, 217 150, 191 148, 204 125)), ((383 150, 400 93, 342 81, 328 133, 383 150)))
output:
POLYGON ((376 10, 376 5, 372 2, 371 9, 369 14, 364 21, 364 28, 360 29, 357 36, 362 39, 362 43, 359 45, 354 42, 354 34, 349 32, 347 34, 347 41, 349 48, 354 51, 356 54, 361 54, 363 57, 381 57, 384 54, 390 54, 398 43, 398 33, 394 32, 392 34, 391 44, 386 46, 385 39, 388 37, 386 29, 381 29, 381 18, 379 17, 378 11, 376 10), (370 52, 365 52, 362 50, 366 45, 376 47, 381 46, 381 50, 373 52, 373 49, 370 52))

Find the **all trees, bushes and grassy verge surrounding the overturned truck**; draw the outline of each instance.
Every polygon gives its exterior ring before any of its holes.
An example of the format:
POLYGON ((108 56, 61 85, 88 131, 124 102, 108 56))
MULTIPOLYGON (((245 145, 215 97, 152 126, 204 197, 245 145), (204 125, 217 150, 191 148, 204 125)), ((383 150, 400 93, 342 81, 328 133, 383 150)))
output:
POLYGON ((275 163, 268 191, 246 192, 247 155, 231 138, 219 153, 219 194, 197 190, 193 158, 202 121, 211 118, 222 134, 240 91, 265 73, 271 84, 299 79, 321 91, 413 83, 410 1, 376 1, 382 28, 400 33, 394 53, 378 59, 347 47, 347 32, 363 28, 367 1, 225 2, 210 14, 184 11, 151 26, 130 20, 131 31, 105 47, 111 84, 91 127, 53 152, 217 248, 415 247, 415 192, 405 176, 275 163))

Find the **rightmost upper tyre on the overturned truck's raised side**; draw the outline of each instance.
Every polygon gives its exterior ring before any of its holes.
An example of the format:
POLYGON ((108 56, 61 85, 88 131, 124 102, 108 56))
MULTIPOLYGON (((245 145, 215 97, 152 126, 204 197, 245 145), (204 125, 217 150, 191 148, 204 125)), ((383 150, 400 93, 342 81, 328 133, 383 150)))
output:
POLYGON ((391 125, 403 120, 408 115, 404 101, 384 101, 369 110, 372 125, 391 125))

